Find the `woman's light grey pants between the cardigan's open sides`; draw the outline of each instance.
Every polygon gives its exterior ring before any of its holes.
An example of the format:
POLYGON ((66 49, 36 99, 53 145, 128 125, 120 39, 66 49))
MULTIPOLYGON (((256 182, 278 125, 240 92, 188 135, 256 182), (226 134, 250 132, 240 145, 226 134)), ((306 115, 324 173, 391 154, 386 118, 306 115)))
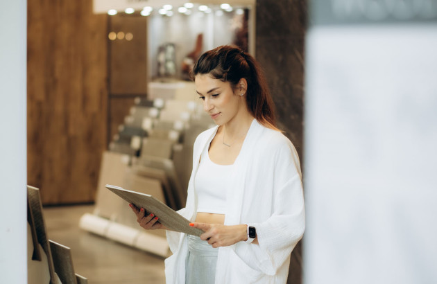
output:
POLYGON ((186 284, 214 284, 216 278, 218 248, 206 240, 188 235, 188 256, 185 265, 186 284))

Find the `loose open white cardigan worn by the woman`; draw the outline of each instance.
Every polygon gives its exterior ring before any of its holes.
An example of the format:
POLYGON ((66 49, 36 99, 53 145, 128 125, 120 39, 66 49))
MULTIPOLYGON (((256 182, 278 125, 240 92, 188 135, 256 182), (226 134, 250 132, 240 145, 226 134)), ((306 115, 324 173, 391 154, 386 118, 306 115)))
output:
MULTIPOLYGON (((197 195, 194 177, 200 154, 218 127, 194 143, 193 171, 185 208, 178 213, 194 222, 197 195)), ((215 283, 286 283, 291 251, 305 230, 305 208, 298 154, 282 133, 250 125, 234 162, 234 184, 227 191, 225 225, 248 224, 259 245, 237 242, 218 249, 215 283)), ((165 260, 166 283, 185 283, 187 235, 166 231, 173 255, 165 260)))

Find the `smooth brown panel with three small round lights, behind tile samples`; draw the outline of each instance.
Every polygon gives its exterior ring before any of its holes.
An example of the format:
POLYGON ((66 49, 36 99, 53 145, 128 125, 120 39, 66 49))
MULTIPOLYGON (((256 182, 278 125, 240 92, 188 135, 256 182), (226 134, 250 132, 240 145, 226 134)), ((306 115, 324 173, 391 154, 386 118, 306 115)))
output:
POLYGON ((148 17, 139 13, 114 15, 108 21, 108 143, 124 123, 135 97, 147 96, 147 23, 148 17))

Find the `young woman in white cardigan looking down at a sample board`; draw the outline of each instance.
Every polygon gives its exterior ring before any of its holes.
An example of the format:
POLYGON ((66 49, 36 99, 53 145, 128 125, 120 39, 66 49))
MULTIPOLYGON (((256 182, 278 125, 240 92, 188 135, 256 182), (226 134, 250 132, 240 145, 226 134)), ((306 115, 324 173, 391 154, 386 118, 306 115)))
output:
MULTIPOLYGON (((194 65, 196 92, 217 124, 194 143, 185 208, 200 238, 167 232, 167 283, 286 283, 305 211, 298 154, 277 130, 255 59, 219 46, 194 65)), ((132 210, 144 229, 158 217, 132 210)))

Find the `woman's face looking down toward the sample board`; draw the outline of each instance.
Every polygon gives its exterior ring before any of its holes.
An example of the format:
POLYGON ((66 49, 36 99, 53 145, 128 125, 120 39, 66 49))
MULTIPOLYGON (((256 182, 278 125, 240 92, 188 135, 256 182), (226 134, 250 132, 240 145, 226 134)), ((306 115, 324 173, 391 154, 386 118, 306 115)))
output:
POLYGON ((237 115, 243 97, 234 94, 230 82, 214 79, 208 74, 196 75, 194 82, 203 100, 203 109, 217 125, 228 123, 237 115))

